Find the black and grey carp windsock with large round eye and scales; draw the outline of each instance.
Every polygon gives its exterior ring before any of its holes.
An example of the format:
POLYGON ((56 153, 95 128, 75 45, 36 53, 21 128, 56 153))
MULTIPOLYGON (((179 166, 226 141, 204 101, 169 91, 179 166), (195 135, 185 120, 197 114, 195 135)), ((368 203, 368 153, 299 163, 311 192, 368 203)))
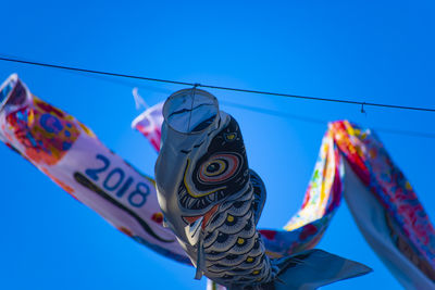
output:
POLYGON ((163 116, 158 200, 197 279, 228 289, 315 289, 371 270, 321 250, 270 259, 257 230, 265 190, 235 118, 196 88, 173 93, 163 116))

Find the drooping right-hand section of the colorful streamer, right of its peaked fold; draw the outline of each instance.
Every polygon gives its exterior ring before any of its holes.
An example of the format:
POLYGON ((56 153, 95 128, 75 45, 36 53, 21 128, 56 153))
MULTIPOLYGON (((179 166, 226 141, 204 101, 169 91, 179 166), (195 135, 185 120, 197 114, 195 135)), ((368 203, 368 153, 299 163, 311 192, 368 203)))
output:
POLYGON ((407 289, 434 289, 435 230, 411 185, 370 129, 328 131, 344 156, 345 199, 364 238, 407 289))

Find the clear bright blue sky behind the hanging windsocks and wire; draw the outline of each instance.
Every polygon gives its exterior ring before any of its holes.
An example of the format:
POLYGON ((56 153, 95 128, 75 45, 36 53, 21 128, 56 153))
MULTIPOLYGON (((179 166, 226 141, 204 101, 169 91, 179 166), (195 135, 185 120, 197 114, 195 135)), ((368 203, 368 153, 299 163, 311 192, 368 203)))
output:
MULTIPOLYGON (((435 108, 433 1, 3 1, 1 55, 157 78, 435 108)), ((149 104, 181 86, 89 77, 0 62, 36 94, 90 126, 149 175, 157 154, 129 128, 132 88, 149 104)), ((324 121, 435 134, 435 113, 214 91, 324 121)), ((261 227, 302 203, 325 125, 222 104, 240 123, 250 166, 268 187, 261 227)), ((380 131, 431 217, 435 139, 380 131)), ((154 254, 0 147, 1 289, 203 289, 194 269, 154 254)), ((344 203, 320 248, 373 267, 324 289, 400 289, 344 203)))

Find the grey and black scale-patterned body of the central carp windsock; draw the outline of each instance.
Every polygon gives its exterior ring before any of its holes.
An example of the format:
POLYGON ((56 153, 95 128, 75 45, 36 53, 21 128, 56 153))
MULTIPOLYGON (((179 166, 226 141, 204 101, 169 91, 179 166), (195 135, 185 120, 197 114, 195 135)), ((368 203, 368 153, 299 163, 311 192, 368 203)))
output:
POLYGON ((274 270, 256 229, 253 189, 224 202, 206 227, 204 275, 222 285, 254 285, 273 279, 274 270))

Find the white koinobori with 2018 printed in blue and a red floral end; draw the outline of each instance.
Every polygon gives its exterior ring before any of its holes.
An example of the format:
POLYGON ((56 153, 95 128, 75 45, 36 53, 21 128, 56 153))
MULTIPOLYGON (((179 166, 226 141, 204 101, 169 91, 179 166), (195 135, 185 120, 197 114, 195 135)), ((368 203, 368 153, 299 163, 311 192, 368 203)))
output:
POLYGON ((0 88, 0 138, 136 241, 189 263, 161 226, 154 181, 105 148, 85 125, 30 93, 16 75, 0 88))

